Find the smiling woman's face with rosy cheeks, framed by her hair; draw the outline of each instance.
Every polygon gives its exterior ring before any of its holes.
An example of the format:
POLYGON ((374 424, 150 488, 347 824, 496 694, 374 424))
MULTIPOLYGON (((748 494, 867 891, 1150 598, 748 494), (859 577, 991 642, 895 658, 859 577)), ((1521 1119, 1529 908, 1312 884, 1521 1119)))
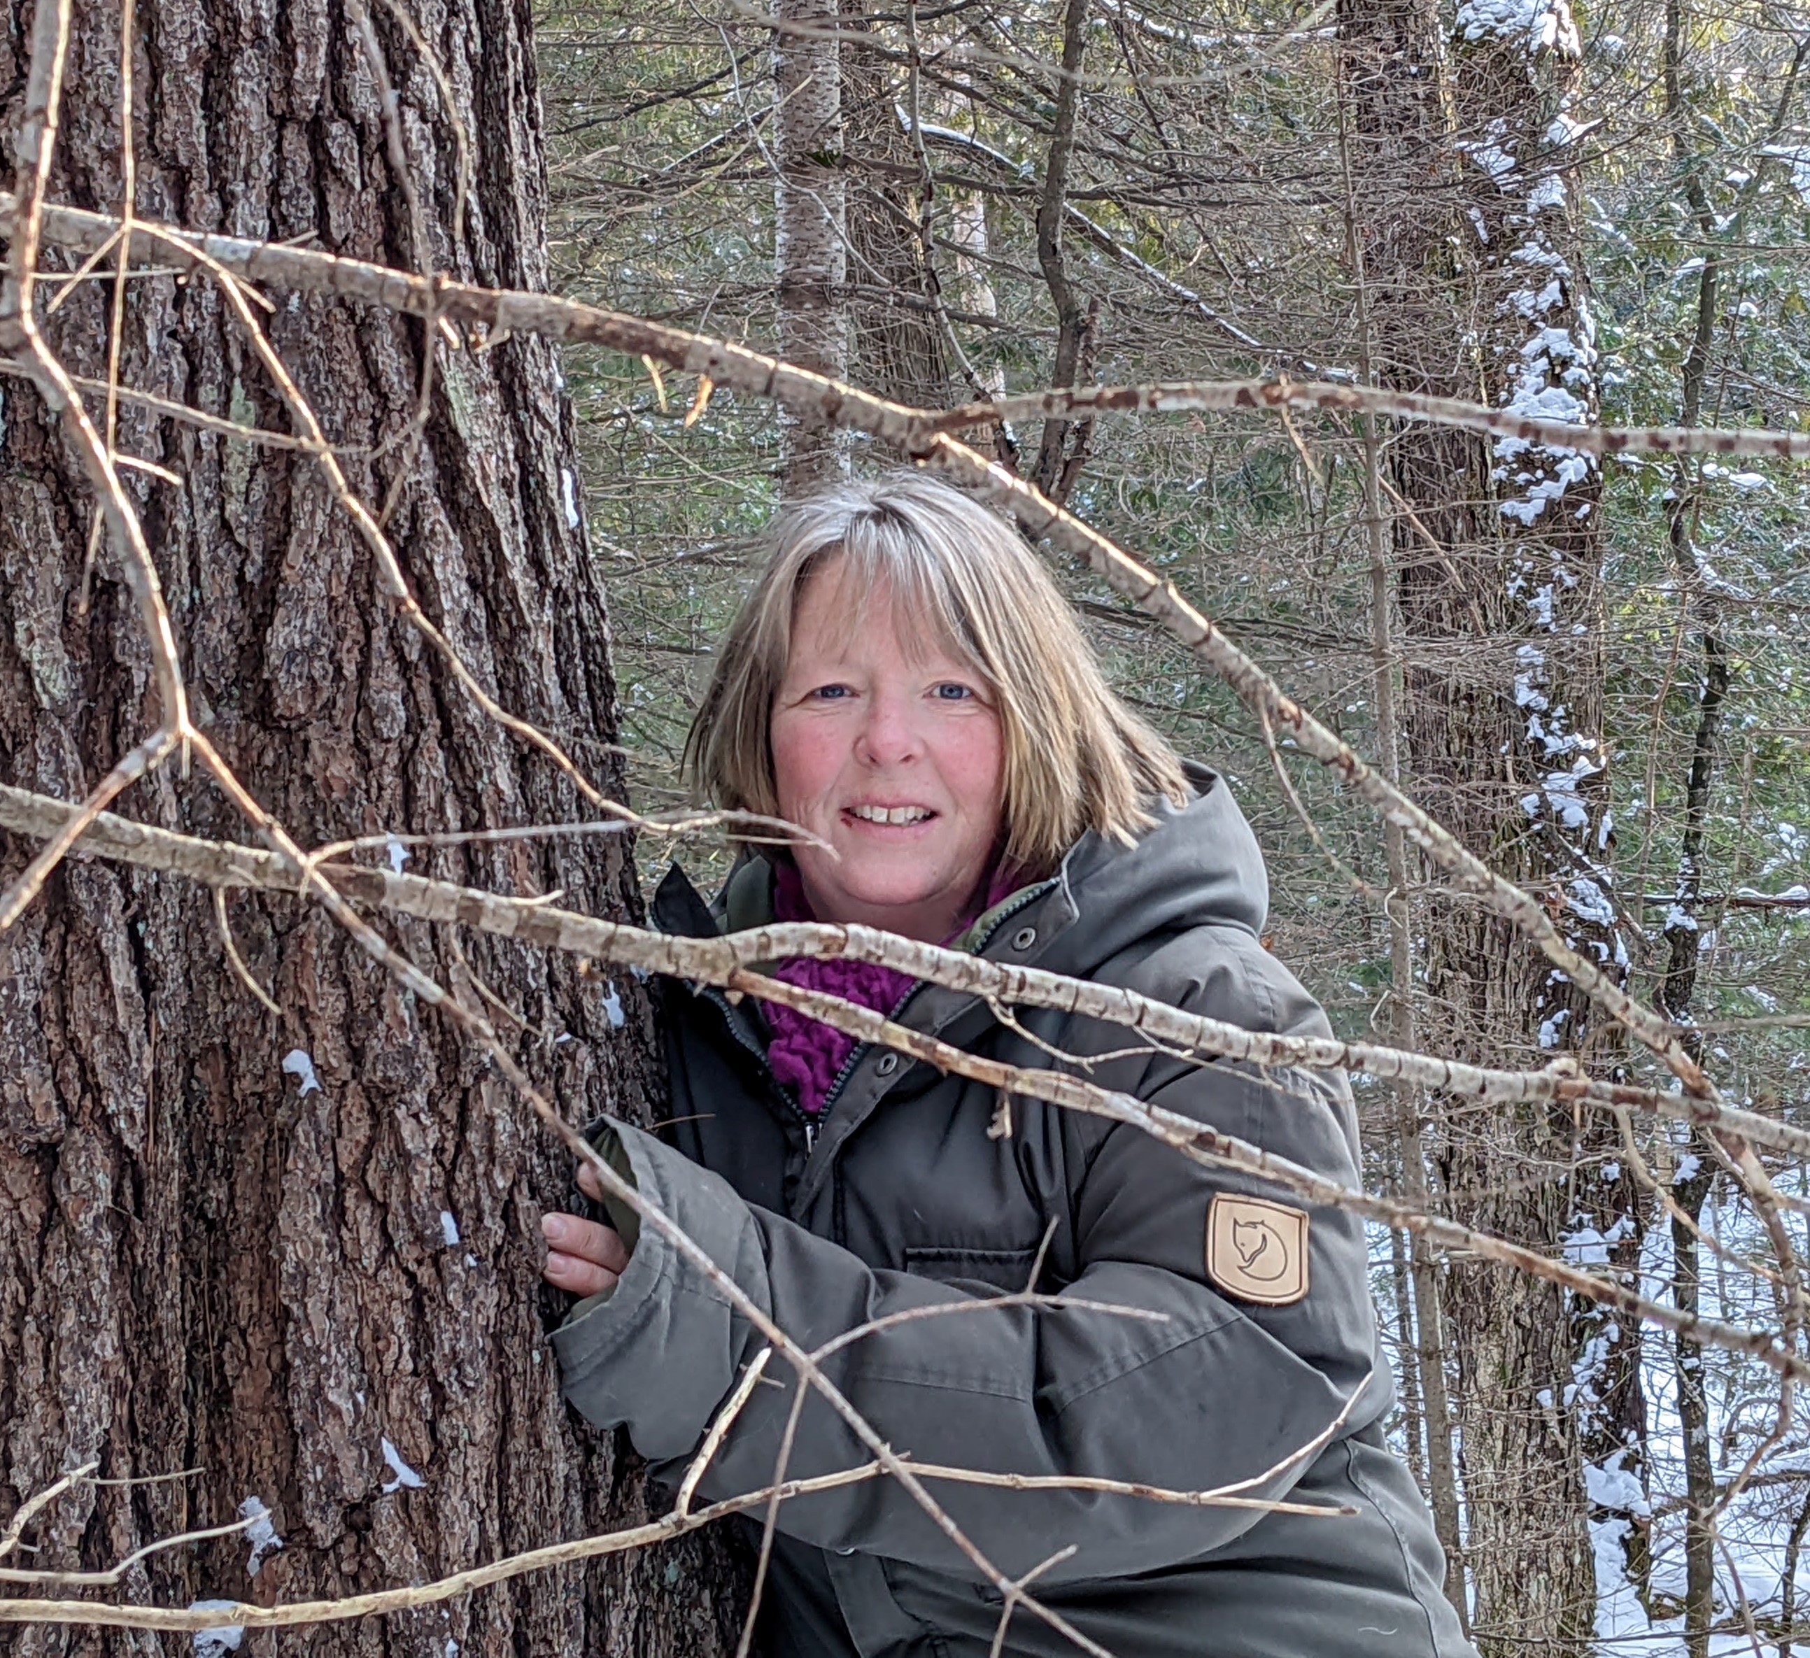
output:
POLYGON ((829 842, 798 845, 824 921, 865 921, 941 943, 963 920, 1001 838, 1003 742, 986 682, 885 586, 856 605, 840 559, 798 597, 773 699, 780 815, 829 842))

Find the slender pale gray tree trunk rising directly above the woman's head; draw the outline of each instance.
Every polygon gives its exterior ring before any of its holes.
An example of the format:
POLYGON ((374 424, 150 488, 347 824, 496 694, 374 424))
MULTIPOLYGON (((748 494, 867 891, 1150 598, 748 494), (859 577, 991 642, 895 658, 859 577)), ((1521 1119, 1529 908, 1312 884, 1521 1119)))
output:
MULTIPOLYGON (((778 161, 773 272, 780 357, 843 378, 849 371, 847 188, 836 0, 780 0, 773 36, 773 147, 778 161)), ((847 469, 824 420, 780 414, 780 494, 807 496, 847 469)))

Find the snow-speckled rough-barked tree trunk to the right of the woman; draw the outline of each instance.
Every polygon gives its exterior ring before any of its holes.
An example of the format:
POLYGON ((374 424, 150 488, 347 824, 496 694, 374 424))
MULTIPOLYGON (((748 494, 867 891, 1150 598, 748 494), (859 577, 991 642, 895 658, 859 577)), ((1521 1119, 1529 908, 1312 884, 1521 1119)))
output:
MULTIPOLYGON (((1453 109, 1481 400, 1593 425, 1595 324, 1569 138, 1580 127, 1578 54, 1567 0, 1546 0, 1513 25, 1466 7, 1452 51, 1453 109)), ((1453 548, 1457 581, 1428 579, 1424 563, 1419 576, 1403 576, 1410 630, 1430 650, 1450 650, 1421 668, 1419 695, 1410 693, 1410 708, 1437 722, 1423 728, 1419 748, 1452 767, 1444 811, 1466 842, 1491 845, 1499 869, 1551 894, 1567 945, 1625 983, 1598 742, 1602 474, 1569 447, 1502 438, 1488 463, 1488 523, 1479 523, 1475 547, 1453 548), (1479 614, 1490 643, 1473 634, 1479 614)), ((1615 1073, 1622 1032, 1589 996, 1513 950, 1499 921, 1470 907, 1437 914, 1430 990, 1452 1028, 1432 1032, 1434 1041, 1473 1052, 1462 1046, 1473 1032, 1495 1062, 1558 1052, 1615 1073)), ((1459 1119, 1446 1137, 1446 1182, 1472 1224, 1522 1242, 1582 1240, 1578 1249, 1600 1247, 1604 1265, 1633 1282, 1645 1200, 1620 1151, 1602 1117, 1533 1110, 1508 1122, 1459 1119)), ((1491 1484, 1470 1515, 1479 1631, 1538 1633, 1560 1651, 1582 1651, 1598 1589, 1582 1464, 1627 1472, 1638 1463, 1640 1329, 1493 1271, 1457 1274, 1452 1289, 1466 1457, 1486 1463, 1491 1484), (1513 1377, 1508 1399, 1502 1376, 1513 1377)))

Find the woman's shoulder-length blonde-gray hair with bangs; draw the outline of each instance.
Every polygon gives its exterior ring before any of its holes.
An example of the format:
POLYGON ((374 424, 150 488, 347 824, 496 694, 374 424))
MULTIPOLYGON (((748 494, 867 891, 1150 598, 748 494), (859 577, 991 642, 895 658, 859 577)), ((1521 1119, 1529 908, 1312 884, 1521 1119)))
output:
POLYGON ((767 724, 805 583, 831 561, 854 579, 851 626, 885 586, 981 675, 1005 748, 1005 858, 1050 872, 1088 829, 1129 845, 1151 796, 1189 796, 1182 762, 1106 682, 1073 610, 996 512, 923 472, 842 483, 784 509, 771 556, 729 624, 686 738, 699 791, 778 815, 767 724))

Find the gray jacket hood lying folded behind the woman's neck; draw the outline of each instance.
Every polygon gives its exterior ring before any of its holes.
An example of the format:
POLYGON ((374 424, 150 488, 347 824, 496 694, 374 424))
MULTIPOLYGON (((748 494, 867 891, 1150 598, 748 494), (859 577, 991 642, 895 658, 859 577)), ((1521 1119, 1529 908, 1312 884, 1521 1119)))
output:
POLYGON ((1155 825, 1135 845, 1084 834, 1057 880, 1073 909, 1037 965, 1086 977, 1151 934, 1242 927, 1258 936, 1269 914, 1269 876, 1256 836, 1225 780, 1187 764, 1186 805, 1158 800, 1155 825))

